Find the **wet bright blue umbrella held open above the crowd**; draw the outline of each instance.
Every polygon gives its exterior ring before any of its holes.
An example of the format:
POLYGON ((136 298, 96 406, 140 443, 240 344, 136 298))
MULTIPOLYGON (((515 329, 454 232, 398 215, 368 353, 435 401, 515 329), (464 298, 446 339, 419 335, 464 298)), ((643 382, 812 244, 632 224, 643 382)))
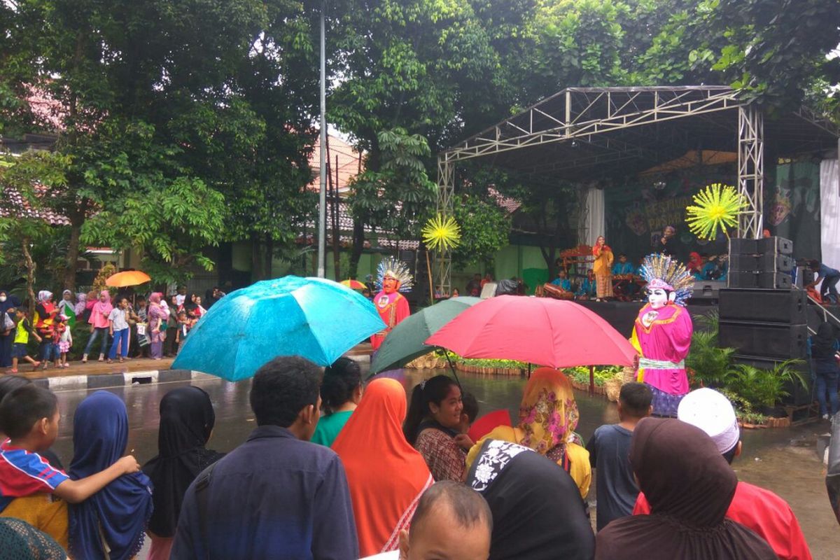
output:
POLYGON ((385 328, 364 296, 332 280, 286 276, 231 292, 192 328, 172 369, 238 381, 277 356, 319 365, 385 328))

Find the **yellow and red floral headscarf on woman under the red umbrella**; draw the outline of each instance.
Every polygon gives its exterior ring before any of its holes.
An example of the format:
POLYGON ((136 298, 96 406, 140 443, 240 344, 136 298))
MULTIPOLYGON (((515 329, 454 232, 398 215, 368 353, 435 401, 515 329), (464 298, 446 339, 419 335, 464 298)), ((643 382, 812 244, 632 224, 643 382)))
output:
POLYGON ((579 418, 569 379, 557 369, 537 369, 519 405, 519 428, 525 432, 520 443, 544 455, 572 441, 579 418))

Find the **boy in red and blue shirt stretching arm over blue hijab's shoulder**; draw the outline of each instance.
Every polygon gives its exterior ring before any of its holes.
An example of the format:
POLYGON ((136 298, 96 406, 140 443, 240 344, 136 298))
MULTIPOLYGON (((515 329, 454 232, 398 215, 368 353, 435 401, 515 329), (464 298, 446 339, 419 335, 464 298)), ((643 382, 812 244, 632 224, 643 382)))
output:
POLYGON ((90 476, 70 479, 39 453, 58 436, 58 400, 49 390, 18 387, 0 402, 0 515, 18 517, 67 547, 67 502, 78 504, 123 476, 139 471, 134 457, 118 459, 90 476), (48 495, 64 501, 51 502, 48 495))

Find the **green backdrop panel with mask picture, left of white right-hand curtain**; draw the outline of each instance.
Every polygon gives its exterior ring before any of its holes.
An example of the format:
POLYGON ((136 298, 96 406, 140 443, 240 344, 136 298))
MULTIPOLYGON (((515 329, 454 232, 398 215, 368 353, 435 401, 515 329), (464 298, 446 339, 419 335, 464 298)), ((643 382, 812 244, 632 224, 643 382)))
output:
POLYGON ((820 166, 811 161, 778 165, 765 184, 764 228, 793 240, 795 259, 820 259, 820 189, 820 166))

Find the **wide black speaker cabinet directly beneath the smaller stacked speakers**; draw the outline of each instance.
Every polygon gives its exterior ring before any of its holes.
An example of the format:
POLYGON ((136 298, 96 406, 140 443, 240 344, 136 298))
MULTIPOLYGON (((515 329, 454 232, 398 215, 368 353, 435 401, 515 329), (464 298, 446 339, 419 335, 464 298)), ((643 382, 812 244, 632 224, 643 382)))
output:
POLYGON ((801 290, 736 290, 717 295, 723 321, 777 322, 801 325, 807 322, 808 297, 801 290))

